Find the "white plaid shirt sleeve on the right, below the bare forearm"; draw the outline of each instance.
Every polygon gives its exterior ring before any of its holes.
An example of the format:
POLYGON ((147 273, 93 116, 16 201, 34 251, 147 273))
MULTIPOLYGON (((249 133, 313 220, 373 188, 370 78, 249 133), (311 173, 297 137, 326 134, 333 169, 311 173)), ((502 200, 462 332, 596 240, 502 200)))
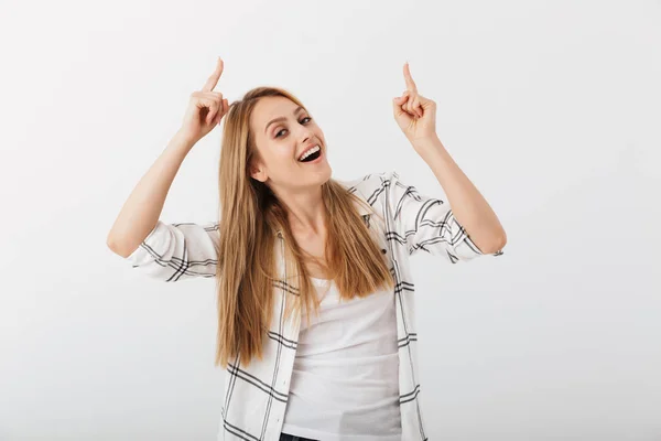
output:
MULTIPOLYGON (((384 178, 387 209, 392 222, 389 233, 407 246, 409 255, 422 250, 447 258, 452 263, 485 255, 455 219, 448 203, 420 194, 395 171, 384 178)), ((490 255, 500 256, 502 250, 490 255)))

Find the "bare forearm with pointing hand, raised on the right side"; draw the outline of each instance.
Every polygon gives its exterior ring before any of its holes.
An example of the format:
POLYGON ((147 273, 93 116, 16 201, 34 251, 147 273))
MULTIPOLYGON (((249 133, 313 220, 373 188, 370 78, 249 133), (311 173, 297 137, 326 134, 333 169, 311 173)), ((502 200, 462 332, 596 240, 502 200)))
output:
POLYGON ((407 90, 393 99, 394 119, 413 149, 432 169, 449 202, 455 219, 484 254, 507 243, 498 216, 477 187, 452 159, 436 135, 436 104, 418 93, 409 64, 404 64, 407 90))

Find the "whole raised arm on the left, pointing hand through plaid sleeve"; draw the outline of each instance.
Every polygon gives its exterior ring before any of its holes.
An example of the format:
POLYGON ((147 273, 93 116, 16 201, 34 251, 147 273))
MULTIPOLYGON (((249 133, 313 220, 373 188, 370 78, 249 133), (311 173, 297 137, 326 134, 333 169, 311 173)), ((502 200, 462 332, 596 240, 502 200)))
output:
POLYGON ((218 58, 216 71, 202 90, 191 95, 182 128, 138 182, 108 233, 107 245, 113 252, 131 259, 134 266, 145 266, 154 276, 167 277, 174 270, 173 276, 178 280, 182 275, 208 276, 213 272, 207 268, 204 273, 198 273, 191 267, 215 263, 214 240, 209 238, 217 238, 218 225, 169 225, 161 222, 160 216, 182 162, 193 146, 219 125, 229 110, 223 94, 213 90, 221 73, 223 61, 218 58))

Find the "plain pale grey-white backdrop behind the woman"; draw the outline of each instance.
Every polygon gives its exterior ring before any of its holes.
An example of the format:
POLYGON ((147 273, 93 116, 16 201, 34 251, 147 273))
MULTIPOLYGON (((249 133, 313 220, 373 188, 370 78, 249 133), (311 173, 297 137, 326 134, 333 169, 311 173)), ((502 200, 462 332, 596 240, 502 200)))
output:
MULTIPOLYGON (((412 258, 430 440, 661 440, 659 1, 3 1, 0 439, 213 440, 213 279, 106 247, 225 60, 284 87, 333 175, 445 197, 392 117, 410 62, 505 255, 412 258)), ((220 128, 162 219, 217 218, 220 128)))

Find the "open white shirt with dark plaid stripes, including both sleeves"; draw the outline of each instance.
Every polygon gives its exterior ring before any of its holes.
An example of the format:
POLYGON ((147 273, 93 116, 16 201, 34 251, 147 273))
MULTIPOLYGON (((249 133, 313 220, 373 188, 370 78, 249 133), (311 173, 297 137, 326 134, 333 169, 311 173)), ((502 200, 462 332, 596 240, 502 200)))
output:
MULTIPOLYGON (((414 186, 402 182, 395 171, 337 182, 369 204, 369 209, 360 204, 356 207, 390 262, 395 281, 402 439, 424 441, 427 432, 421 409, 415 297, 409 257, 425 251, 456 263, 483 256, 483 252, 457 223, 447 203, 421 195, 414 186)), ((273 320, 264 356, 262 361, 251 361, 248 366, 241 365, 237 357, 227 366, 218 440, 280 439, 300 321, 285 320, 283 314, 294 289, 285 283, 288 268, 281 232, 277 233, 277 238, 275 257, 282 279, 273 286, 273 320)), ((127 259, 133 268, 163 281, 213 278, 216 276, 217 244, 218 223, 165 224, 159 220, 127 259)))

